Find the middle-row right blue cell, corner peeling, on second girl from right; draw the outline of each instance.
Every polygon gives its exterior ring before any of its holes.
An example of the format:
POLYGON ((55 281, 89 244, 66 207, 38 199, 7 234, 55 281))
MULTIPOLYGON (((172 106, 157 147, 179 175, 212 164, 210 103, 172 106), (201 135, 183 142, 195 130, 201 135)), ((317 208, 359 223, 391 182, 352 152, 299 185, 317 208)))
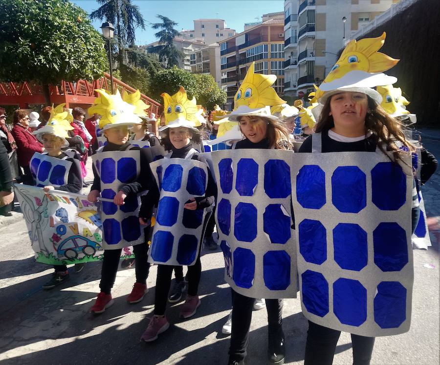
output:
POLYGON ((269 204, 263 213, 263 229, 271 243, 286 243, 290 236, 290 216, 281 204, 269 204))

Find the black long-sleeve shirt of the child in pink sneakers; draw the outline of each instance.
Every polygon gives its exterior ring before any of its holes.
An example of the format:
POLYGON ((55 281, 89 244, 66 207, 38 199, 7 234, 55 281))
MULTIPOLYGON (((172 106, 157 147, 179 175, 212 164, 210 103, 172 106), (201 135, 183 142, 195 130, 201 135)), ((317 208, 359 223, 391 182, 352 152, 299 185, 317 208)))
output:
MULTIPOLYGON (((187 153, 193 148, 193 145, 189 143, 185 147, 181 149, 173 148, 173 152, 171 154, 171 158, 184 158, 187 153)), ((200 156, 198 153, 195 153, 192 160, 197 160, 203 162, 207 165, 206 160, 200 156)), ((205 195, 196 197, 197 209, 204 209, 211 206, 214 203, 215 198, 217 197, 217 185, 212 177, 211 171, 208 169, 208 184, 206 187, 205 195)), ((141 197, 142 205, 139 211, 139 216, 142 218, 150 218, 153 213, 154 206, 159 202, 160 192, 157 184, 152 184, 149 192, 141 197)))

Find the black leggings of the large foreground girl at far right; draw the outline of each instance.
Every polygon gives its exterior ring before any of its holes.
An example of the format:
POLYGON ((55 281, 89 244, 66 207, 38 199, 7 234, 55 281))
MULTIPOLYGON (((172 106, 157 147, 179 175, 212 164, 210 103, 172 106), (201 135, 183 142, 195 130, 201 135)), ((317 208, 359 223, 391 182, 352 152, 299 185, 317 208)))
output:
MULTIPOLYGON (((308 321, 304 365, 331 365, 341 332, 308 321)), ((374 337, 352 335, 353 365, 369 365, 374 337)))

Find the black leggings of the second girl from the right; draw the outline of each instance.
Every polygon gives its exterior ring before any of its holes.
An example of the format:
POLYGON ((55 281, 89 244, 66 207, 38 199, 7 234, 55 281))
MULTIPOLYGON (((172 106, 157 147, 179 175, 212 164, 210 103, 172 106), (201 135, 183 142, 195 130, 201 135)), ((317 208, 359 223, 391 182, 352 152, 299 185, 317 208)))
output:
MULTIPOLYGON (((281 328, 283 322, 283 300, 266 299, 265 301, 269 334, 276 333, 281 328)), ((232 302, 232 333, 229 358, 231 360, 241 361, 246 357, 246 348, 249 343, 249 328, 255 299, 245 297, 233 291, 232 302)))

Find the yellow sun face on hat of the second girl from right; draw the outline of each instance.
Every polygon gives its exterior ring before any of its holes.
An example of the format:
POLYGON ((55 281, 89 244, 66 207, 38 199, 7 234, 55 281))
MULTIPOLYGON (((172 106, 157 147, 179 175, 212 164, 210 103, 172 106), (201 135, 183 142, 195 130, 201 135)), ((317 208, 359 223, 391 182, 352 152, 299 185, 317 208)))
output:
POLYGON ((275 75, 263 75, 254 72, 254 64, 249 66, 242 85, 234 97, 234 110, 245 105, 251 109, 274 106, 286 103, 275 89, 271 87, 277 80, 275 75))

